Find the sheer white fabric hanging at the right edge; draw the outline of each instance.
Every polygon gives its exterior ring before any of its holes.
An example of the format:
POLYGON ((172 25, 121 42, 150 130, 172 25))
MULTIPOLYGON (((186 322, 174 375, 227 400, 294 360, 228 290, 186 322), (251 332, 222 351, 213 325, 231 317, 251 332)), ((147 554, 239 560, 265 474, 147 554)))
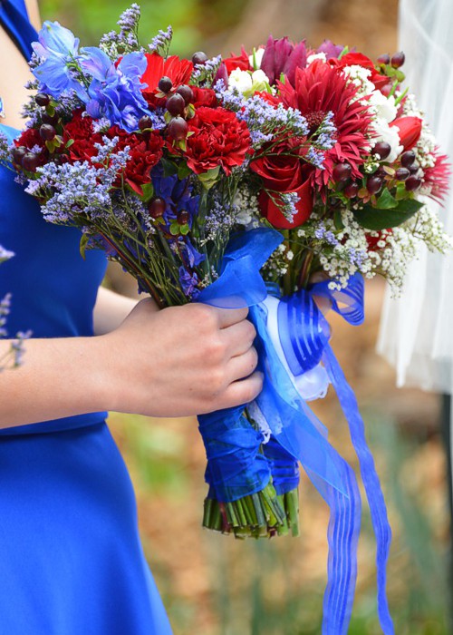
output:
MULTIPOLYGON (((400 49, 410 93, 453 161, 453 0, 400 0, 400 49)), ((453 235, 453 193, 439 215, 453 235)), ((401 298, 387 293, 378 350, 399 386, 453 392, 453 253, 421 250, 401 298)))

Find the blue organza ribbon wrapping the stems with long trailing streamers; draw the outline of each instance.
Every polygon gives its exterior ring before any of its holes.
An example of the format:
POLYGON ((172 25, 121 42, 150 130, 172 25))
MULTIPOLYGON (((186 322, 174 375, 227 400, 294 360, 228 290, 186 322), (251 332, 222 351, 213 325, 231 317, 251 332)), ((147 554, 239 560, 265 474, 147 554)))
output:
MULTIPOLYGON (((281 241, 280 233, 264 228, 241 234, 227 249, 221 275, 198 299, 217 307, 250 308, 249 317, 257 332, 259 368, 264 374, 264 386, 256 398, 256 406, 270 428, 272 444, 282 448, 281 457, 287 458, 289 454, 304 466, 330 507, 323 635, 343 635, 351 618, 357 576, 361 496, 352 468, 329 444, 325 426, 300 397, 266 327, 267 310, 260 304, 265 299, 266 287, 259 269, 281 241)), ((363 282, 359 277, 352 278, 352 284, 342 292, 331 291, 328 282, 319 283, 309 291, 301 290, 290 298, 283 298, 278 306, 279 337, 294 376, 304 374, 323 361, 348 419, 376 534, 381 628, 386 635, 391 635, 394 631, 385 592, 390 527, 381 486, 366 445, 357 402, 328 344, 330 328, 313 296, 328 298, 334 310, 350 323, 359 324, 363 319, 363 282)), ((260 491, 269 482, 270 467, 275 467, 272 446, 270 462, 267 462, 258 453, 264 437, 248 423, 242 411, 242 407, 231 408, 198 417, 207 447, 209 495, 215 495, 219 501, 234 501, 260 491)), ((278 462, 277 454, 278 451, 275 455, 278 462)), ((286 475, 282 476, 281 485, 285 487, 286 475)))

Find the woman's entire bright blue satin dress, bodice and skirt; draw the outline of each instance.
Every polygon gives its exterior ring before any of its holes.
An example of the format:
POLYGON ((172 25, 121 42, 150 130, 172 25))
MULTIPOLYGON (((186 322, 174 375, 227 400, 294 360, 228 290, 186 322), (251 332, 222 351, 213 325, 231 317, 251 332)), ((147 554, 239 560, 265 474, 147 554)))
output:
MULTIPOLYGON (((0 22, 24 50, 5 5, 26 21, 24 4, 0 4, 0 22)), ((0 244, 15 253, 0 266, 0 298, 13 295, 10 336, 28 328, 34 337, 91 336, 104 255, 83 260, 79 231, 46 223, 4 167, 0 193, 0 244)), ((105 416, 0 430, 0 635, 171 634, 105 416)))

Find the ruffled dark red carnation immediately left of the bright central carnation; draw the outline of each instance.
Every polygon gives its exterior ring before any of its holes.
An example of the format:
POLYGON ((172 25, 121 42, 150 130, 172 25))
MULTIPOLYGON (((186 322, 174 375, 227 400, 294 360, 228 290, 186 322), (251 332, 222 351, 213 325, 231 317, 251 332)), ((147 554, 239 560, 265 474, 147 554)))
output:
POLYGON ((118 126, 112 126, 107 136, 119 137, 115 151, 130 147, 129 161, 124 170, 124 181, 132 190, 141 194, 140 185, 150 182, 149 173, 162 157, 164 141, 159 132, 125 132, 118 126))

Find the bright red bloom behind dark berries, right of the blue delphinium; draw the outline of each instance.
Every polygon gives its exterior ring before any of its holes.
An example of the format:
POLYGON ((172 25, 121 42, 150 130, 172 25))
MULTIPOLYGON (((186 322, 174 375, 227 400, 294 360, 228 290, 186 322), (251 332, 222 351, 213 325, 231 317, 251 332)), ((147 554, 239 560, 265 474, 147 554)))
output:
POLYGON ((169 77, 174 88, 178 88, 181 83, 189 83, 194 65, 188 60, 180 60, 178 55, 170 55, 166 60, 157 53, 146 53, 147 68, 141 76, 141 82, 147 83, 142 93, 151 106, 163 103, 156 97, 159 93, 159 80, 165 75, 169 77))

